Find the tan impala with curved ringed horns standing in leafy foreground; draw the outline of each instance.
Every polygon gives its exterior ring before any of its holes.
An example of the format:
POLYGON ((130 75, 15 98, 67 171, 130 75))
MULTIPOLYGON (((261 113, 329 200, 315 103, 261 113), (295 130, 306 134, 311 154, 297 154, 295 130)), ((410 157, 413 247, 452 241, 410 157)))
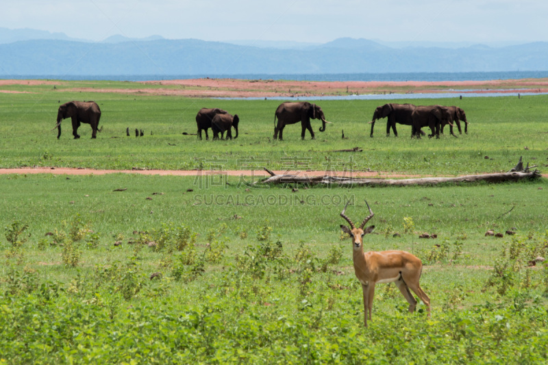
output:
POLYGON ((381 252, 365 252, 363 248, 363 237, 365 234, 369 234, 375 228, 374 225, 367 227, 364 230, 364 226, 371 218, 373 218, 373 211, 367 201, 365 202, 369 208, 369 216, 367 216, 360 228, 354 227, 354 224, 345 215, 347 205, 345 209, 340 213, 340 216, 350 224, 350 227, 340 225, 345 233, 349 234, 353 242, 353 262, 354 272, 356 277, 362 284, 362 290, 364 293, 364 325, 367 327, 367 314, 369 313, 369 320, 371 320, 371 308, 373 307, 373 295, 375 294, 375 284, 395 282, 403 297, 409 303, 409 312, 414 312, 416 307, 416 300, 411 294, 410 290, 425 303, 427 315, 430 316, 430 299, 419 285, 419 279, 421 279, 421 273, 423 270, 423 263, 419 257, 412 255, 406 251, 381 251, 381 252))

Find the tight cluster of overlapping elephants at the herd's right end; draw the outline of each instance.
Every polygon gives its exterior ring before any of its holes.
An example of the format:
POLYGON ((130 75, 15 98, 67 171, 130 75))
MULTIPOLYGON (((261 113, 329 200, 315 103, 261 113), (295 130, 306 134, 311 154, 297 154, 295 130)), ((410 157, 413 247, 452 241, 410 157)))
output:
MULTIPOLYGON (((386 136, 390 136, 390 127, 394 131, 394 135, 397 136, 396 123, 411 126, 411 136, 421 138, 422 127, 429 127, 432 134, 429 137, 436 136, 440 138, 440 132, 443 134, 443 127, 449 124, 449 130, 452 136, 453 123, 458 127, 458 131, 462 134, 460 129, 460 122, 464 122, 464 133, 468 134, 468 124, 466 120, 466 114, 464 110, 456 106, 442 106, 442 105, 421 105, 416 106, 413 104, 384 104, 377 107, 373 113, 373 120, 371 124, 371 134, 373 137, 373 127, 375 127, 375 121, 377 119, 388 118, 386 122, 386 136)), ((456 136, 455 136, 456 137, 456 136)))

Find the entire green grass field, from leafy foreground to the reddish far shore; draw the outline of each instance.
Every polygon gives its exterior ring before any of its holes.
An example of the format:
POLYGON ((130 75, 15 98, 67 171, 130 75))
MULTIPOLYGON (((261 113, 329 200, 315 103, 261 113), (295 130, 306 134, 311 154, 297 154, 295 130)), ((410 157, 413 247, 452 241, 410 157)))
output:
MULTIPOLYGON (((382 102, 323 101, 334 124, 316 140, 301 141, 294 125, 272 142, 277 101, 12 88, 34 93, 0 93, 1 167, 208 169, 223 160, 224 169, 238 169, 267 160, 270 168, 321 170, 329 162, 460 175, 508 171, 520 155, 541 171, 548 164, 543 96, 414 101, 466 110, 469 135, 440 140, 411 140, 404 126, 399 138, 386 138, 378 122, 369 138, 367 122, 382 102), (71 99, 101 106, 97 140, 88 125, 73 140, 69 121, 60 140, 49 131, 58 101, 71 99), (209 106, 240 115, 238 140, 182 136, 195 133, 197 110, 209 106), (125 137, 126 127, 145 136, 125 137), (352 160, 326 152, 356 146, 364 152, 352 160)), ((548 268, 530 263, 548 254, 546 179, 407 188, 250 182, 0 175, 0 364, 547 362, 548 268), (339 214, 349 200, 347 215, 362 220, 364 199, 376 226, 365 248, 421 258, 432 317, 422 303, 408 314, 397 288, 379 284, 363 327, 339 214), (488 229, 504 236, 485 236, 488 229)))

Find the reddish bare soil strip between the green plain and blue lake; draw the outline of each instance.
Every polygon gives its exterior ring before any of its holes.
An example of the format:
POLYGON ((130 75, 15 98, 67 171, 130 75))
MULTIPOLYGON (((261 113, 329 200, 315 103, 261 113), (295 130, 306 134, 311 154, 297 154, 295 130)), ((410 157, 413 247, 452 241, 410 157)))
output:
MULTIPOLYGON (((0 80, 4 85, 55 85, 60 81, 0 80)), ((313 97, 363 94, 548 92, 548 78, 490 81, 286 81, 272 79, 182 79, 131 83, 132 88, 72 88, 74 92, 175 95, 180 97, 313 97), (135 88, 134 86, 141 85, 135 88)))

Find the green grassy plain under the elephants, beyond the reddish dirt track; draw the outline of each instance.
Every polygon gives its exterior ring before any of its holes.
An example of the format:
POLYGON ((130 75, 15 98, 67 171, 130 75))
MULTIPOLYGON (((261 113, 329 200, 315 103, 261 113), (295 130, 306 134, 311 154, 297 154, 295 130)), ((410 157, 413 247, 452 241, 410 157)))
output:
MULTIPOLYGON (((77 83, 77 81, 75 81, 77 83)), ((76 85, 79 86, 80 83, 76 85)), ((95 88, 107 88, 98 81, 95 88)), ((129 90, 132 83, 114 83, 129 90)), ((6 87, 7 88, 7 87, 6 87)), ((368 124, 377 105, 384 101, 318 101, 328 121, 319 132, 312 121, 316 140, 301 141, 300 125, 289 125, 284 141, 273 141, 274 111, 279 101, 185 99, 134 92, 71 92, 71 84, 59 86, 9 86, 25 94, 0 94, 0 167, 71 166, 88 168, 208 169, 221 164, 237 170, 251 159, 271 169, 300 168, 325 170, 367 168, 373 171, 453 175, 508 171, 523 155, 526 162, 547 164, 548 96, 418 99, 417 105, 440 103, 466 110, 470 133, 460 138, 446 135, 440 140, 412 140, 410 127, 399 126, 399 138, 386 138, 386 119, 375 123, 369 138, 368 124), (94 99, 99 103, 104 129, 91 140, 88 125, 79 128, 80 140, 73 140, 71 123, 62 124, 57 140, 55 126, 60 102, 94 99), (240 116, 240 138, 230 141, 199 141, 195 116, 203 107, 218 106, 240 116), (129 127, 132 137, 125 136, 129 127), (134 137, 135 129, 145 136, 134 137), (348 139, 341 139, 342 131, 348 139), (153 135, 151 136, 151 132, 153 135), (362 153, 330 152, 362 147, 362 153), (486 159, 486 156, 488 159, 486 159), (214 159, 221 162, 212 162, 214 159)), ((393 102, 408 102, 394 100, 393 102)))

